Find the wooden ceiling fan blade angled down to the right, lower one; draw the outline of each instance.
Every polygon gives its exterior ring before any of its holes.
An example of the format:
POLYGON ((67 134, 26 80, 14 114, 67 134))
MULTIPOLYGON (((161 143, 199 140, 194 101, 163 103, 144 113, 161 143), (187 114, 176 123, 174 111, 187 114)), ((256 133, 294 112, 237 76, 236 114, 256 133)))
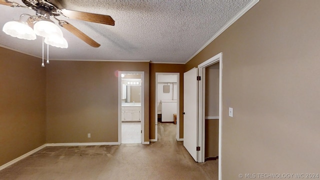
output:
POLYGON ((92 47, 99 47, 100 44, 97 43, 96 41, 94 41, 92 38, 90 38, 89 36, 87 36, 85 33, 83 33, 82 31, 80 31, 79 29, 77 29, 76 27, 74 27, 73 25, 71 25, 70 23, 66 22, 66 21, 59 21, 59 24, 65 28, 66 30, 68 30, 69 32, 73 33, 75 36, 77 36, 78 38, 80 38, 81 40, 83 40, 84 42, 86 42, 87 44, 91 45, 92 47))

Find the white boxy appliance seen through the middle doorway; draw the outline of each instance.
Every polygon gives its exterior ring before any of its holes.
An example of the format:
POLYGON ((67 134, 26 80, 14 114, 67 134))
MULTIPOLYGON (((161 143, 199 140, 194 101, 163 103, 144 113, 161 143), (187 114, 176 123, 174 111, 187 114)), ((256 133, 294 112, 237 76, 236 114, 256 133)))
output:
POLYGON ((161 100, 162 122, 173 122, 173 114, 176 113, 176 100, 161 100))

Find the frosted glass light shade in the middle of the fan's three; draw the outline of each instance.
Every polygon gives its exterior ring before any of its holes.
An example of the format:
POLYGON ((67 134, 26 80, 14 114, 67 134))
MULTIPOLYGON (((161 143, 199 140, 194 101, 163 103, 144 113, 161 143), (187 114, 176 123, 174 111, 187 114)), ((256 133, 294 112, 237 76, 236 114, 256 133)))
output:
POLYGON ((61 29, 49 19, 41 19, 35 22, 33 25, 33 30, 36 35, 40 35, 42 37, 48 37, 53 33, 62 36, 61 29))

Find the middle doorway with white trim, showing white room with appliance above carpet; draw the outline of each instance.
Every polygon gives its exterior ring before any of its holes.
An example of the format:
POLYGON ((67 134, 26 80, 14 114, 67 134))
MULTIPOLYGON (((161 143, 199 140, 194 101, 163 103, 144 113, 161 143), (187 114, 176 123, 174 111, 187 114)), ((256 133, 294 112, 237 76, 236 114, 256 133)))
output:
MULTIPOLYGON (((158 122, 174 123, 176 126, 176 140, 179 137, 179 73, 155 73, 155 138, 158 140, 158 122)), ((165 134, 164 134, 165 135, 165 134)))

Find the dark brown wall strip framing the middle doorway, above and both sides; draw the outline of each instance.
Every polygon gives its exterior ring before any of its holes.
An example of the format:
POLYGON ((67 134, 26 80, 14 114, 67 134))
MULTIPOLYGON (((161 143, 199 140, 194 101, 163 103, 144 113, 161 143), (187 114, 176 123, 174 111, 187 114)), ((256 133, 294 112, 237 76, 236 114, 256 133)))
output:
POLYGON ((157 64, 150 63, 150 139, 155 138, 155 72, 179 72, 179 138, 183 138, 183 71, 184 64, 157 64))

